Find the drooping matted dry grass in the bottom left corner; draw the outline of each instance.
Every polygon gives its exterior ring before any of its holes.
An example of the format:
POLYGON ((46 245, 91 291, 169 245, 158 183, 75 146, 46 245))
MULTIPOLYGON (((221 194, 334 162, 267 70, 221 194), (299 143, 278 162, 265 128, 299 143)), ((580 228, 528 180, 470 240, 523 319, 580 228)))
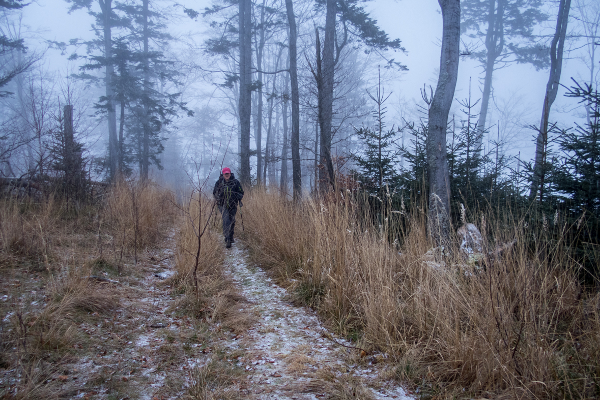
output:
POLYGON ((104 316, 118 301, 114 288, 89 281, 88 270, 70 268, 59 276, 47 287, 44 307, 23 303, 12 314, 7 310, 0 314, 6 324, 0 332, 1 358, 11 371, 4 378, 14 380, 13 386, 0 390, 1 398, 70 398, 80 389, 56 379, 64 374, 62 365, 73 359, 76 348, 88 347, 89 338, 79 323, 104 316))

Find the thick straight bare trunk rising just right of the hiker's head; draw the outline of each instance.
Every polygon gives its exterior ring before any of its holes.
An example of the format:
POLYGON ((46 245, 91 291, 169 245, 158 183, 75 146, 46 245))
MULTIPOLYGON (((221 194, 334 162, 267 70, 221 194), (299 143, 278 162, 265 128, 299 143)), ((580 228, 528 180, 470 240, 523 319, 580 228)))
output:
POLYGON ((250 186, 250 119, 252 116, 252 2, 239 1, 239 181, 250 186))

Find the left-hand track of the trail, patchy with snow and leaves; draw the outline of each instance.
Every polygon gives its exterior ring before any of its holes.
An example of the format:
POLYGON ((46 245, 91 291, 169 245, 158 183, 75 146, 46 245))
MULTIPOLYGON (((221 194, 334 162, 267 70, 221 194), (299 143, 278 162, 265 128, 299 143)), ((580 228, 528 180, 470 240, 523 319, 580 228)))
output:
POLYGON ((80 325, 93 337, 101 335, 106 347, 99 344, 95 356, 72 365, 73 374, 82 375, 77 398, 162 400, 184 393, 187 367, 170 362, 169 351, 173 356, 181 351, 182 343, 173 337, 193 334, 193 326, 186 317, 169 312, 175 299, 163 280, 176 273, 174 251, 175 232, 170 232, 162 249, 140 254, 138 265, 128 266, 137 272, 121 277, 122 286, 117 286, 122 288, 121 307, 113 321, 80 325))

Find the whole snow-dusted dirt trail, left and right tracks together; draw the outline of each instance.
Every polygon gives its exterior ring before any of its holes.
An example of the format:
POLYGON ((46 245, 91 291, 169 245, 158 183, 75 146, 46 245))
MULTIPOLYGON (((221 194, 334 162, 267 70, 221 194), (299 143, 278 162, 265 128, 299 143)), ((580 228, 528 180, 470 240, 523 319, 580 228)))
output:
POLYGON ((140 254, 134 274, 118 277, 121 305, 113 317, 80 323, 79 330, 94 339, 89 356, 64 365, 68 397, 179 399, 190 386, 190 372, 197 372, 194 366, 206 365, 220 351, 229 365, 245 371, 229 388, 242 399, 410 399, 395 381, 382 378, 386 363, 377 360, 383 354, 360 357, 326 338, 316 313, 290 304, 286 290, 248 265, 247 250, 238 244, 223 249, 225 270, 248 300, 239 303, 241 311, 256 323, 235 335, 178 313, 173 304, 183 295, 164 281, 175 274, 174 237, 163 249, 140 254))

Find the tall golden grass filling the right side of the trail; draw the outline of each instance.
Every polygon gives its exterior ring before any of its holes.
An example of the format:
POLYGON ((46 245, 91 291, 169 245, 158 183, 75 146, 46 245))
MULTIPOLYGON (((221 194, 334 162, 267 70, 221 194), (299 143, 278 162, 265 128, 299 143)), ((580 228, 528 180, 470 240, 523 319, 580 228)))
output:
POLYGON ((440 262, 423 212, 395 248, 388 222, 365 223, 352 199, 296 208, 257 191, 244 203, 254 261, 341 334, 391 354, 422 395, 600 396, 600 294, 581 286, 565 243, 531 251, 535 232, 488 217, 497 244, 517 238, 509 249, 478 263, 451 249, 440 262))

